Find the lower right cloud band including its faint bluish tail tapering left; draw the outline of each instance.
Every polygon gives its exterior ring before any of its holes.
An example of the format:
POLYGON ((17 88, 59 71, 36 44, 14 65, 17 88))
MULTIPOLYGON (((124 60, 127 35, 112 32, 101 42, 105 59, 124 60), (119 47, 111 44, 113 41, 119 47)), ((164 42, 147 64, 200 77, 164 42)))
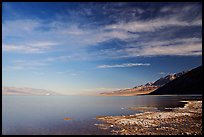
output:
POLYGON ((200 56, 202 39, 184 38, 173 40, 149 40, 130 42, 120 49, 107 49, 96 55, 107 58, 127 58, 138 56, 200 56))

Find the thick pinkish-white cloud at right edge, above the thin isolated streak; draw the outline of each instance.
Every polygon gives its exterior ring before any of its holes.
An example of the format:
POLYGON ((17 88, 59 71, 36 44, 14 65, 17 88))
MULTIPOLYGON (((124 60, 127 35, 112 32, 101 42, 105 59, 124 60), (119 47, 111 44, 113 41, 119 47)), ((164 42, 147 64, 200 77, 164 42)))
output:
POLYGON ((202 55, 201 39, 176 39, 172 41, 155 41, 141 43, 142 46, 124 49, 129 56, 195 56, 202 55))

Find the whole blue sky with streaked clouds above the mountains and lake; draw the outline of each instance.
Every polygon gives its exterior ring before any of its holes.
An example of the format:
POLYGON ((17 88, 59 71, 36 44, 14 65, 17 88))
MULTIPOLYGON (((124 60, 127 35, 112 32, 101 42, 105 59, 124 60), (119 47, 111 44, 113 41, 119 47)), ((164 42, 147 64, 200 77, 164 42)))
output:
POLYGON ((2 85, 89 94, 202 65, 202 4, 3 2, 2 85))

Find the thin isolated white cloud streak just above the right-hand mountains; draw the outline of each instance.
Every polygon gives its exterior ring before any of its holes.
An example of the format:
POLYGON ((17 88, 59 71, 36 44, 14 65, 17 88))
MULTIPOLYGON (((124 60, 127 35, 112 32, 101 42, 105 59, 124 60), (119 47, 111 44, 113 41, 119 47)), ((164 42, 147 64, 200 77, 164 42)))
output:
POLYGON ((97 68, 125 68, 125 67, 137 67, 137 66, 150 66, 149 63, 124 63, 115 65, 100 65, 97 68))

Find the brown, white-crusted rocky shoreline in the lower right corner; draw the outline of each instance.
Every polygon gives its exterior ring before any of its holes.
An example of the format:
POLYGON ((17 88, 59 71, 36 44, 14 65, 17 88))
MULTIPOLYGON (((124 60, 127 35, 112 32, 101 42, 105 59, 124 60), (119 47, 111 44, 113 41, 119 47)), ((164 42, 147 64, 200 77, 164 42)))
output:
MULTIPOLYGON (((171 111, 129 116, 98 116, 100 129, 112 129, 113 135, 202 135, 202 100, 185 100, 184 107, 171 111)), ((135 108, 137 110, 137 108, 135 108)))

